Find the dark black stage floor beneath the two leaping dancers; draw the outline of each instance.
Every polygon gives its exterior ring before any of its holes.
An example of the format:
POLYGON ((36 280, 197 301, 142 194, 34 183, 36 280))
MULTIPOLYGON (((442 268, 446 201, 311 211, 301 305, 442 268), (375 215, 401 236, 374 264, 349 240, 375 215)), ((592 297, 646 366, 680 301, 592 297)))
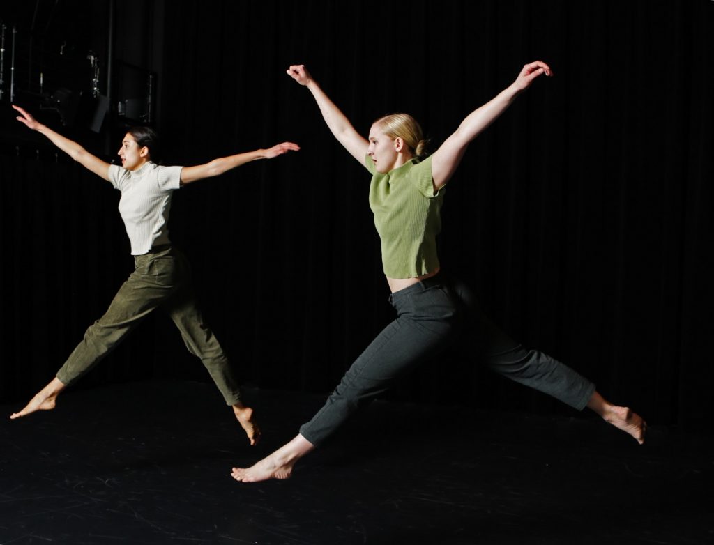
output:
MULTIPOLYGON (((68 392, 0 422, 0 544, 714 543, 714 441, 593 419, 377 402, 284 482, 239 484, 323 396, 248 392, 249 447, 211 384, 68 392)), ((0 407, 8 415, 19 406, 0 407)))

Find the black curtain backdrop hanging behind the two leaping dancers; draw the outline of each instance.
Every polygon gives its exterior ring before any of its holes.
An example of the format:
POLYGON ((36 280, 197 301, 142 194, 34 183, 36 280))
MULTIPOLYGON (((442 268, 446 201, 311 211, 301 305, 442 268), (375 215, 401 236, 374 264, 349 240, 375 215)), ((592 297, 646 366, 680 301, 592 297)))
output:
MULTIPOLYGON (((713 431, 714 1, 146 4, 120 7, 116 51, 159 74, 164 163, 302 146, 174 197, 172 238, 248 384, 327 392, 392 318, 369 175, 286 68, 305 63, 361 133, 406 111, 437 148, 542 59, 555 77, 471 144, 448 186, 443 268, 605 397, 713 431)), ((54 376, 133 266, 119 193, 26 133, 0 154, 0 402, 54 376)), ((149 377, 207 380, 160 314, 79 387, 149 377)), ((449 354, 390 395, 572 414, 449 354)))

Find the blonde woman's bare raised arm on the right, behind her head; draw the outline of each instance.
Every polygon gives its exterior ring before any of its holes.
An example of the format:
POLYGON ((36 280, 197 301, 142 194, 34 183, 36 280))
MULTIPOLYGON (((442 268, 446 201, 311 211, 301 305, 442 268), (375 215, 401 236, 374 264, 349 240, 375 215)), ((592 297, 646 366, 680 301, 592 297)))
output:
POLYGON ((550 66, 541 61, 535 61, 523 66, 523 70, 518 74, 516 81, 505 88, 496 97, 477 110, 468 114, 461 122, 456 132, 449 136, 446 141, 433 153, 431 158, 431 175, 434 180, 434 188, 441 188, 453 175, 458 164, 461 163, 463 153, 468 144, 481 134, 493 121, 496 121, 501 113, 506 111, 508 106, 516 100, 516 97, 526 91, 531 86, 533 80, 538 76, 552 76, 550 66))

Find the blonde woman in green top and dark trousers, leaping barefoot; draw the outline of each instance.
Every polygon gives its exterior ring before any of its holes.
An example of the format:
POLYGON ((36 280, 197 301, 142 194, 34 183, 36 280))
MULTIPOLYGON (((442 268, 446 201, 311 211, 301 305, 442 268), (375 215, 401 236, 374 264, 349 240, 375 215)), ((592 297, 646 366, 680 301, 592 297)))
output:
POLYGON ((468 144, 543 74, 550 76, 543 62, 524 66, 511 86, 468 115, 435 153, 426 156, 421 128, 411 116, 399 113, 379 118, 367 140, 303 65, 288 69, 291 78, 313 93, 335 138, 372 175, 369 203, 397 318, 357 358, 324 407, 291 442, 248 469, 234 467, 234 479, 255 482, 290 477, 298 459, 384 392, 396 377, 455 343, 464 357, 481 357, 501 375, 575 409, 589 407, 638 442, 644 441, 646 424, 638 414, 605 401, 592 382, 552 357, 525 350, 511 340, 481 314, 468 288, 440 272, 436 235, 441 229, 444 185, 468 144))

